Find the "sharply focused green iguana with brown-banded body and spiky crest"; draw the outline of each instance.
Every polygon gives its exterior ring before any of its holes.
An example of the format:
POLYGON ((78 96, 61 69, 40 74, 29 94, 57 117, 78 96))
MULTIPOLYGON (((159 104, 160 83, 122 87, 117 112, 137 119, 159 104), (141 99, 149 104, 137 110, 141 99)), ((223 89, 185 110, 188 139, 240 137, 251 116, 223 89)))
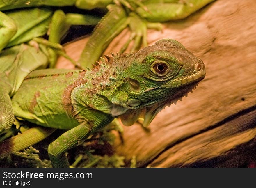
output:
MULTIPOLYGON (((68 130, 48 147, 53 167, 68 167, 65 151, 113 118, 132 125, 143 117, 147 127, 161 109, 185 96, 205 77, 203 62, 172 39, 137 53, 106 57, 107 61, 102 59, 102 64, 87 71, 32 71, 12 98, 15 116, 47 127, 45 137, 53 128, 68 130)), ((20 150, 28 139, 30 144, 43 139, 34 138, 38 132, 34 128, 17 135, 26 135, 19 139, 19 147, 15 137, 4 141, 0 157, 20 150)))

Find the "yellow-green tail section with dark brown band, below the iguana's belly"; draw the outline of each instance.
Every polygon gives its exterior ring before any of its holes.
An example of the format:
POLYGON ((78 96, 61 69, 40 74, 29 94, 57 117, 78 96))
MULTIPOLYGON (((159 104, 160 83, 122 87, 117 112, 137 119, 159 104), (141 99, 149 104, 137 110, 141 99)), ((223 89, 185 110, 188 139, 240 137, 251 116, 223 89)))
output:
POLYGON ((5 157, 14 151, 19 151, 38 143, 52 134, 56 129, 46 127, 32 127, 22 134, 13 136, 12 138, 0 143, 0 158, 5 157))

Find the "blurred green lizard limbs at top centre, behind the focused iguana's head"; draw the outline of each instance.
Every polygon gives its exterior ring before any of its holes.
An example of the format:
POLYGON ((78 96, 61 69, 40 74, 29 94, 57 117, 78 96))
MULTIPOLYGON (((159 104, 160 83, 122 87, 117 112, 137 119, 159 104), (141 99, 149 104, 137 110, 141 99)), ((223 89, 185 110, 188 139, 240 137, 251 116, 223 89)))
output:
POLYGON ((134 40, 131 52, 141 43, 147 46, 147 29, 161 30, 159 22, 185 18, 214 0, 118 0, 107 6, 108 13, 95 27, 79 59, 82 67, 92 67, 109 43, 127 26, 131 35, 120 53, 134 40), (122 5, 122 6, 121 6, 122 5))

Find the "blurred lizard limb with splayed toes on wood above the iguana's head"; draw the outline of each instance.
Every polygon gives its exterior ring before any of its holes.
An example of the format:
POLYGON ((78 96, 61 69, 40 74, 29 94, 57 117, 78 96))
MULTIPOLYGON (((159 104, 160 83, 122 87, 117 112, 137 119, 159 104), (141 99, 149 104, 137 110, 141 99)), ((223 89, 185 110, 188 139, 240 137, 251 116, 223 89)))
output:
MULTIPOLYGON (((119 1, 122 3, 124 0, 119 1)), ((136 4, 136 6, 132 7, 132 9, 136 9, 136 11, 129 14, 128 19, 131 36, 120 50, 120 53, 127 49, 131 40, 134 40, 131 52, 138 50, 141 43, 143 47, 146 47, 147 29, 152 28, 162 30, 162 25, 159 22, 185 18, 214 0, 168 0, 167 2, 155 0, 144 1, 143 3, 135 2, 133 0, 129 1, 131 5, 134 3, 136 4)))

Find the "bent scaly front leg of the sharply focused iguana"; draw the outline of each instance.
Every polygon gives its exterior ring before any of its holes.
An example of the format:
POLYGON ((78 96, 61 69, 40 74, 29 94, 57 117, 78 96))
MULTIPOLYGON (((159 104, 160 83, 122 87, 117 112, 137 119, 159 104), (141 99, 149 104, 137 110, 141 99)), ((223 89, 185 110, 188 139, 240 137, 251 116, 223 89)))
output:
MULTIPOLYGON (((90 102, 87 101, 88 96, 81 97, 84 92, 81 88, 84 86, 90 87, 89 85, 81 85, 80 87, 74 88, 70 95, 73 105, 72 114, 80 124, 63 133, 48 147, 48 154, 53 167, 69 167, 65 152, 83 143, 88 136, 105 127, 114 119, 111 115, 90 107, 90 102)), ((104 108, 105 105, 103 103, 107 101, 97 97, 94 98, 95 96, 95 94, 90 96, 92 100, 97 100, 93 105, 98 108, 101 108, 100 105, 103 105, 104 108)))

